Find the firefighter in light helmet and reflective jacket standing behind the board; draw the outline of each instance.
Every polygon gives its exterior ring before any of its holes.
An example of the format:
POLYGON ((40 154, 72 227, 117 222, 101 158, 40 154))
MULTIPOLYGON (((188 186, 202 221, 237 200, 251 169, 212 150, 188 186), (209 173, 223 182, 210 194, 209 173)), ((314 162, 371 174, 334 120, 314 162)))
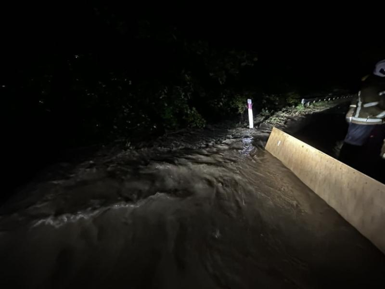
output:
POLYGON ((384 182, 385 60, 363 79, 358 99, 346 115, 349 123, 340 160, 384 182))

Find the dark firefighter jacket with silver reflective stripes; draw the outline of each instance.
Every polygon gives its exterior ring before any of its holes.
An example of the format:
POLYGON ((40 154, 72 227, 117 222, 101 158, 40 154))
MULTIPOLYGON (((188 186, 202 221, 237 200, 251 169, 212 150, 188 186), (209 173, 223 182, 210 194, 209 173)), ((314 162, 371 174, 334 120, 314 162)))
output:
POLYGON ((371 75, 362 83, 346 120, 354 124, 385 123, 385 77, 371 75))

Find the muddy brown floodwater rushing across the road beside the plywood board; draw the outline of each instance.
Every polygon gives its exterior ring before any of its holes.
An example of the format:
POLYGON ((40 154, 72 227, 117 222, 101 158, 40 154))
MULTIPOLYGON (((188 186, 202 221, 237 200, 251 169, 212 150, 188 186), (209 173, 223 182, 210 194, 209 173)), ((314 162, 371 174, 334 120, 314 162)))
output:
POLYGON ((25 187, 0 208, 1 288, 384 288, 385 256, 262 148, 269 129, 203 134, 25 187))

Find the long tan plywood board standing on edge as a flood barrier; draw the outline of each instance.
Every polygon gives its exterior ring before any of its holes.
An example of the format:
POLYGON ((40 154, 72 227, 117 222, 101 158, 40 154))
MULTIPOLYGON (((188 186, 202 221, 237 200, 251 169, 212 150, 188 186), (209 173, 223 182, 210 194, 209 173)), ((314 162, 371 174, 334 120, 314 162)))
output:
POLYGON ((385 253, 384 184, 277 128, 266 150, 385 253))

